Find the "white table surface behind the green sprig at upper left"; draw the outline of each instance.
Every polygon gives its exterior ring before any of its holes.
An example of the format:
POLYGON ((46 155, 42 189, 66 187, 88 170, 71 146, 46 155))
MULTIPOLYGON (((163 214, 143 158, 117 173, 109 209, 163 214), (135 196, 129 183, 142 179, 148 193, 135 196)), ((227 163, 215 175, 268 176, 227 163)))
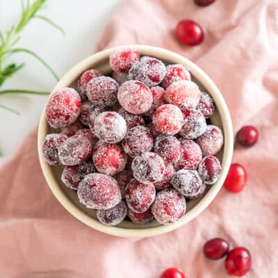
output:
MULTIPOLYGON (((21 0, 0 0, 0 30, 6 31, 20 16, 21 0)), ((40 14, 63 26, 62 35, 49 24, 33 19, 22 32, 18 47, 35 51, 54 68, 58 76, 95 49, 99 35, 111 13, 122 0, 48 0, 40 14)), ((10 62, 24 62, 26 66, 1 89, 30 89, 50 91, 56 83, 51 74, 31 56, 17 54, 10 62)), ((33 95, 1 95, 0 103, 21 113, 17 116, 0 109, 0 164, 15 152, 26 134, 38 124, 47 97, 33 95)))

